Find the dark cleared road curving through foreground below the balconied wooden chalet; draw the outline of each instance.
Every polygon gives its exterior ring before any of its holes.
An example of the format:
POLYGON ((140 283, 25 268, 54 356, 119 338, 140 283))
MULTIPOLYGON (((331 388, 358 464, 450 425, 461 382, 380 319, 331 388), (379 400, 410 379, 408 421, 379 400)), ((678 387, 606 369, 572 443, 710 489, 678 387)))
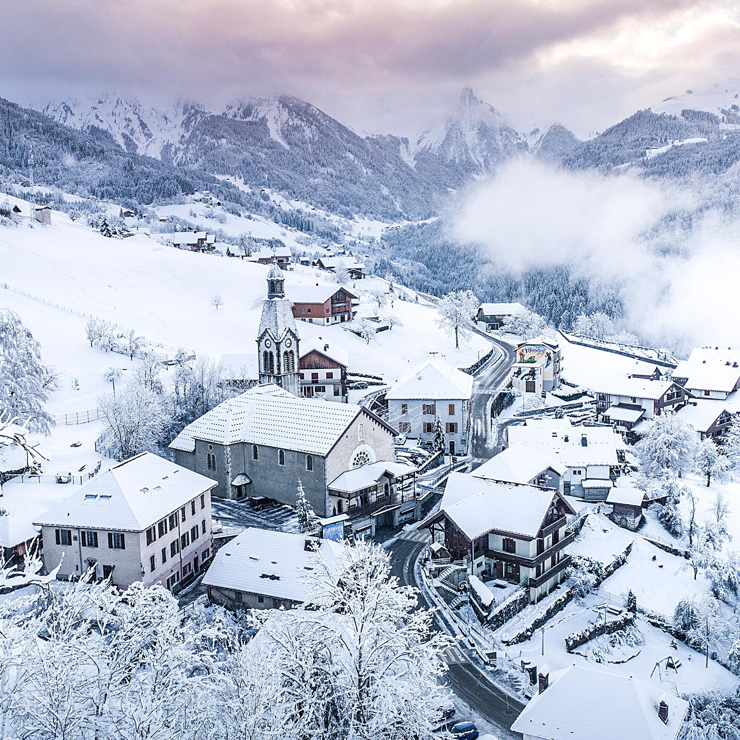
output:
MULTIPOLYGON (((411 534, 404 538, 394 539, 388 543, 388 550, 391 552, 392 573, 400 580, 401 583, 419 588, 415 573, 415 565, 419 554, 428 542, 428 538, 421 540, 421 533, 411 534)), ((421 599, 427 608, 432 605, 426 601, 423 591, 420 590, 421 599)), ((434 628, 445 630, 442 619, 438 613, 435 613, 434 628)), ((446 651, 445 659, 447 661, 447 673, 445 681, 455 694, 462 700, 456 702, 458 705, 457 716, 460 720, 467 719, 465 708, 462 704, 471 707, 475 714, 480 716, 491 727, 491 732, 499 740, 508 740, 511 738, 521 738, 517 733, 509 730, 511 723, 517 719, 519 712, 524 708, 524 704, 508 698, 499 688, 494 686, 485 673, 477 665, 472 663, 465 653, 457 647, 452 647, 446 651)), ((488 729, 482 727, 480 729, 488 729)))

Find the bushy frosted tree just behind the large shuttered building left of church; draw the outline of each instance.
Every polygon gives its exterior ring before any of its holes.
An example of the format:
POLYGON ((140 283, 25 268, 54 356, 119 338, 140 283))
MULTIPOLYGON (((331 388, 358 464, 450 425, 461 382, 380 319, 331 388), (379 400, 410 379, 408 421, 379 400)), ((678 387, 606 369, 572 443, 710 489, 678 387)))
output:
POLYGON ((159 394, 136 379, 118 394, 98 397, 105 423, 103 444, 118 460, 160 449, 168 419, 159 394))

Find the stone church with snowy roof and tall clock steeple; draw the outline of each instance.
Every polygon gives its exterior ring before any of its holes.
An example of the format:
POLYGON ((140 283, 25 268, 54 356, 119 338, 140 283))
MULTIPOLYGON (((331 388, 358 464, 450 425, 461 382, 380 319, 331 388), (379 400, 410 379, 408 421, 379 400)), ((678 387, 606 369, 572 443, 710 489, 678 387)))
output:
POLYGON ((397 431, 363 406, 300 396, 299 344, 283 273, 272 265, 257 335, 260 385, 187 425, 169 448, 178 465, 217 481, 215 496, 295 505, 300 480, 314 511, 331 516, 332 482, 393 460, 397 431))

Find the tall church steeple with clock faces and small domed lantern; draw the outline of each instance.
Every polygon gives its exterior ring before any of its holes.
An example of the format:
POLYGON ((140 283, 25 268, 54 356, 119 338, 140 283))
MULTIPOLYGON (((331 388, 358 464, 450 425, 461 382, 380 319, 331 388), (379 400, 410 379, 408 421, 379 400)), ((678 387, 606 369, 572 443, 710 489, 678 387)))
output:
POLYGON ((257 334, 260 383, 275 383, 295 395, 300 394, 299 340, 293 304, 285 297, 283 271, 272 264, 267 272, 267 297, 262 303, 257 334))

